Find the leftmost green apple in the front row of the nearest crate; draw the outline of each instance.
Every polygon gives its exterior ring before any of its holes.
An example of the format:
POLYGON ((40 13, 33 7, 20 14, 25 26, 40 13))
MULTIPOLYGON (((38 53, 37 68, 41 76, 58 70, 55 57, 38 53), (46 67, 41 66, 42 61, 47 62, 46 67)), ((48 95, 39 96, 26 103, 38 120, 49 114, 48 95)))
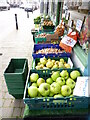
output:
POLYGON ((28 95, 31 98, 37 97, 37 94, 38 94, 38 88, 37 87, 35 87, 35 86, 28 87, 28 95))

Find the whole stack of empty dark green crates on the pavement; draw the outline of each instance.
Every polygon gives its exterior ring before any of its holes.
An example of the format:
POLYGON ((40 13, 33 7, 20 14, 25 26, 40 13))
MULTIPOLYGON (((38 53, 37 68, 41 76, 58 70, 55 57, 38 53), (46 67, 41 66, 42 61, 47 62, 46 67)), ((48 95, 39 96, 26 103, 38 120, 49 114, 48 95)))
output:
POLYGON ((27 59, 11 59, 4 72, 4 77, 9 94, 16 99, 23 98, 27 74, 27 59))

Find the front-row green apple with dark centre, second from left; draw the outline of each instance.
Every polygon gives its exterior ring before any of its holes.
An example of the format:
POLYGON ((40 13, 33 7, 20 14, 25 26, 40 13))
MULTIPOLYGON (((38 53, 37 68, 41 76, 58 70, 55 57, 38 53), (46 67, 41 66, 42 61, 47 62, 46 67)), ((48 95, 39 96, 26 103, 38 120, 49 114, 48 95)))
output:
POLYGON ((46 97, 50 93, 50 85, 48 83, 42 83, 38 90, 42 96, 46 97))

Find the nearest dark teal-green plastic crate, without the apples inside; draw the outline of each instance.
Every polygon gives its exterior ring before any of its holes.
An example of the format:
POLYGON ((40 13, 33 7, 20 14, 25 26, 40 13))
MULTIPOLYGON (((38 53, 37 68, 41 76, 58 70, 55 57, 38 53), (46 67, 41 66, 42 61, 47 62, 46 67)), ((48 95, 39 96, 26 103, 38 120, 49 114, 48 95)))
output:
MULTIPOLYGON (((60 69, 67 70, 69 73, 76 69, 60 69)), ((37 98, 30 98, 28 96, 28 87, 30 86, 30 75, 32 73, 38 73, 39 77, 44 78, 45 80, 49 78, 53 71, 58 70, 30 70, 30 73, 27 78, 26 87, 24 91, 24 103, 29 106, 30 110, 45 110, 45 109, 80 109, 80 108, 88 108, 88 97, 63 97, 63 98, 53 98, 53 97, 37 97, 37 98)), ((81 71, 80 71, 81 73, 81 71)), ((82 75, 82 73, 81 73, 82 75)))

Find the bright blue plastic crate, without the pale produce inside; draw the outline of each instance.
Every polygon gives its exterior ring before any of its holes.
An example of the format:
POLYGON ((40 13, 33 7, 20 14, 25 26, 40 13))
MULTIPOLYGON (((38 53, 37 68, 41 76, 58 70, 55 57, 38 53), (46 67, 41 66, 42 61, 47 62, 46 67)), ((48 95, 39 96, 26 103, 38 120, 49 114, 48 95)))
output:
POLYGON ((63 50, 59 44, 34 44, 34 48, 33 48, 33 53, 32 53, 32 56, 33 58, 42 58, 42 57, 70 57, 71 54, 70 53, 66 53, 66 52, 63 52, 63 53, 49 53, 49 54, 36 54, 36 51, 38 50, 41 50, 41 49, 44 49, 44 48, 57 48, 57 49, 60 49, 60 50, 63 50))

